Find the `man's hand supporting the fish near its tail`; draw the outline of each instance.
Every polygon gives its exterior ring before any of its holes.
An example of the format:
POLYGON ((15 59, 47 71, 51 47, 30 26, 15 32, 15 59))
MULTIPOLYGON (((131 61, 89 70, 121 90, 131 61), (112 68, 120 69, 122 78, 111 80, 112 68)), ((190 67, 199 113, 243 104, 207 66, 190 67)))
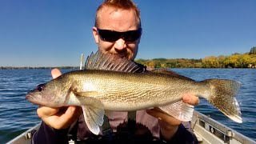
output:
MULTIPOLYGON (((193 106, 197 106, 199 104, 199 98, 192 94, 185 94, 182 98, 182 101, 193 106)), ((161 134, 165 140, 170 140, 177 132, 178 125, 182 123, 178 119, 165 114, 159 108, 147 110, 147 113, 159 119, 161 134)))

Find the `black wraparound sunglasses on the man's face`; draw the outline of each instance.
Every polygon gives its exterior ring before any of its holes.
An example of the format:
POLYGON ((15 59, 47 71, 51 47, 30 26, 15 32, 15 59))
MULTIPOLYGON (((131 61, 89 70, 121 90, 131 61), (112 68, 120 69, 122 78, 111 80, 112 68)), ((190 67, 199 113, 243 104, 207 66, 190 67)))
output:
POLYGON ((125 32, 118 32, 114 30, 101 30, 98 28, 97 30, 99 36, 106 42, 116 42, 119 38, 122 38, 126 42, 134 42, 142 35, 142 28, 125 32))

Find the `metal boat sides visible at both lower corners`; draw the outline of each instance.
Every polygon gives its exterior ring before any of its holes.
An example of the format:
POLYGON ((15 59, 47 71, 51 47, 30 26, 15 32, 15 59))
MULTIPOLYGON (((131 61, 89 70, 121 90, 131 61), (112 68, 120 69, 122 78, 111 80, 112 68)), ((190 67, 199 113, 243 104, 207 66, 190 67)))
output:
MULTIPOLYGON (((30 144, 33 134, 38 130, 40 125, 41 122, 30 128, 30 130, 26 130, 24 133, 18 135, 18 137, 12 139, 10 142, 7 142, 7 144, 30 144)), ((238 133, 238 131, 231 129, 196 110, 194 110, 193 118, 191 120, 191 127, 200 144, 256 144, 253 139, 238 133)), ((74 143, 74 141, 72 142, 74 143)))

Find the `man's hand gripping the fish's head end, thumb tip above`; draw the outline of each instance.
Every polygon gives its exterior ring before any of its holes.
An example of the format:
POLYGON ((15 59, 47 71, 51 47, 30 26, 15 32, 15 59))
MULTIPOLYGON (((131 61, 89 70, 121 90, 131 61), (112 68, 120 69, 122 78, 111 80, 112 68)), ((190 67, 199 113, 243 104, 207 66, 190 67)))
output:
MULTIPOLYGON (((53 78, 57 78, 62 73, 58 69, 54 69, 51 71, 51 74, 53 78)), ((39 106, 37 112, 38 117, 42 118, 42 121, 46 122, 48 126, 60 130, 65 129, 74 123, 80 114, 82 114, 82 109, 80 106, 66 106, 59 108, 39 106)))

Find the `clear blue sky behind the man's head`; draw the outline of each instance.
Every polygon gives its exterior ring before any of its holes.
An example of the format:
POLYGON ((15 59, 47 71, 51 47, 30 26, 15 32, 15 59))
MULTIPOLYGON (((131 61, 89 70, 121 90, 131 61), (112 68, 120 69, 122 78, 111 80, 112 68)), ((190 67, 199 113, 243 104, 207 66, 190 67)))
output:
MULTIPOLYGON (((0 66, 79 66, 97 50, 102 0, 1 0, 0 66)), ((256 46, 254 0, 134 0, 142 15, 137 58, 205 58, 256 46)))

